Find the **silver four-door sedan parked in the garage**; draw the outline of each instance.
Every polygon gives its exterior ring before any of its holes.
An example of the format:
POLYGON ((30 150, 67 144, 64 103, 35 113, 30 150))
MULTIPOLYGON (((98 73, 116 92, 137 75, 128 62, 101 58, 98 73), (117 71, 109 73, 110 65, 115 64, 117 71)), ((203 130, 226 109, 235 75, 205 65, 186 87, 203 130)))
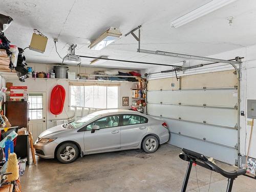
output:
POLYGON ((34 147, 41 158, 71 163, 83 155, 143 148, 154 153, 169 140, 167 124, 129 110, 102 110, 42 132, 34 147))

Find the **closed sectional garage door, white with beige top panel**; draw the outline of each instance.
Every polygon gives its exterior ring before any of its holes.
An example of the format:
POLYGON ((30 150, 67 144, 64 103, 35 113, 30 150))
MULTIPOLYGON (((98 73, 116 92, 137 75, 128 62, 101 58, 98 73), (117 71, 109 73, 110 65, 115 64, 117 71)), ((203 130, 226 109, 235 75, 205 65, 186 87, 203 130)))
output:
POLYGON ((237 84, 233 70, 148 80, 147 114, 165 119, 170 144, 236 164, 237 84))

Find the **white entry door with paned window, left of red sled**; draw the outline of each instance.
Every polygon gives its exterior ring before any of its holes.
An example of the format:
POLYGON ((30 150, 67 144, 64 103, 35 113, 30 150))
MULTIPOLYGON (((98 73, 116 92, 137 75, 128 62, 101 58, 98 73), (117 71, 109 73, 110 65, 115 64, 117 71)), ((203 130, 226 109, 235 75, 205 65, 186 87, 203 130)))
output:
POLYGON ((46 130, 46 93, 29 92, 29 131, 35 141, 46 130))

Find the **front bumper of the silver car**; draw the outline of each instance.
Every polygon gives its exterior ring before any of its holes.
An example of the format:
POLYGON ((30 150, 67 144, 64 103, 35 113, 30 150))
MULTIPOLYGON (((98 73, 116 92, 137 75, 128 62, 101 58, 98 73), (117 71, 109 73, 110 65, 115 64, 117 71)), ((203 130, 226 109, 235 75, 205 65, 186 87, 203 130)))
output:
POLYGON ((55 143, 54 141, 50 143, 35 143, 35 155, 44 159, 53 159, 57 145, 58 143, 55 143))

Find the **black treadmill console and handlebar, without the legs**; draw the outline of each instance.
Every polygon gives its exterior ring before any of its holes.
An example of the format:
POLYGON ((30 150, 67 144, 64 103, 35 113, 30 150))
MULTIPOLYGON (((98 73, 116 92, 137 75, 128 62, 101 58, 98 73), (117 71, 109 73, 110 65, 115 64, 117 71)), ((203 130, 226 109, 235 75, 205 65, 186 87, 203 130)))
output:
POLYGON ((182 148, 181 150, 183 153, 181 153, 179 155, 179 157, 182 160, 193 161, 194 163, 196 163, 202 167, 208 168, 210 170, 213 170, 214 172, 217 172, 226 178, 235 179, 238 176, 244 175, 246 173, 245 169, 233 170, 231 172, 228 172, 228 171, 220 168, 219 166, 217 166, 215 163, 209 161, 207 157, 205 157, 204 155, 202 155, 200 153, 187 150, 186 148, 182 148))

